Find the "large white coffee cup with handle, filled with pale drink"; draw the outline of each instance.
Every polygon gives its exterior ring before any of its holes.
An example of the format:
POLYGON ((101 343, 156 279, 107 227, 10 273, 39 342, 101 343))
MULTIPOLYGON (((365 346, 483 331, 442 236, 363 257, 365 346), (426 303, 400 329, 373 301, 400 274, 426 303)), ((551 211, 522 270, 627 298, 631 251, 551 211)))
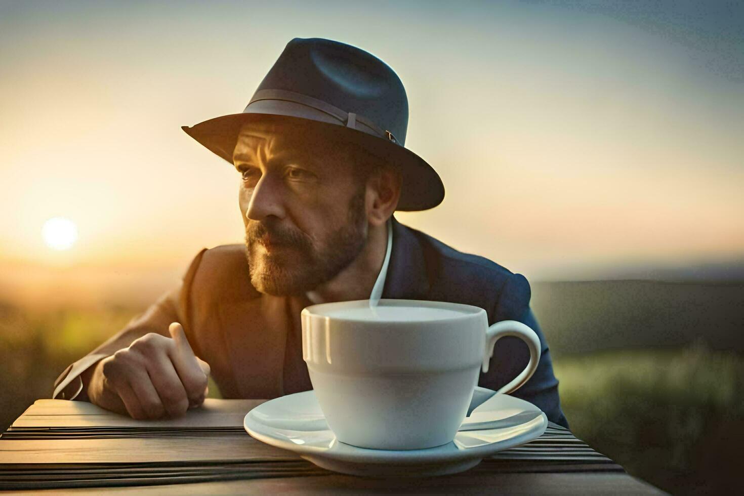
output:
POLYGON ((361 448, 422 449, 455 439, 499 338, 522 338, 530 362, 497 393, 525 384, 540 358, 530 327, 488 326, 484 309, 460 303, 343 301, 308 306, 301 317, 303 358, 328 426, 361 448))

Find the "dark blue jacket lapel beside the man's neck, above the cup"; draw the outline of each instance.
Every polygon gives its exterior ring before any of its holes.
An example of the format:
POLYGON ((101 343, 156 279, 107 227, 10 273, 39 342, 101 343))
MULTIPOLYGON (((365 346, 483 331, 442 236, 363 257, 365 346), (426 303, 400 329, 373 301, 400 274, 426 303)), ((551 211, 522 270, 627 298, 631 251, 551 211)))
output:
POLYGON ((391 216, 391 219, 393 248, 382 297, 426 300, 429 294, 429 277, 423 247, 416 236, 417 231, 398 222, 395 216, 391 216))

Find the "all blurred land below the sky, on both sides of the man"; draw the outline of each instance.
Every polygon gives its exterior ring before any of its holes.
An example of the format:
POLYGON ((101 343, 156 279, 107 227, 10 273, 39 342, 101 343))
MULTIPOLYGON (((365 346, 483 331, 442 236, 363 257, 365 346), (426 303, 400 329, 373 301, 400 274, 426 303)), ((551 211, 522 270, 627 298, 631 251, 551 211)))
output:
MULTIPOLYGON (((571 430, 673 494, 723 490, 744 445, 744 283, 533 283, 571 430)), ((0 428, 144 311, 0 303, 0 428)))

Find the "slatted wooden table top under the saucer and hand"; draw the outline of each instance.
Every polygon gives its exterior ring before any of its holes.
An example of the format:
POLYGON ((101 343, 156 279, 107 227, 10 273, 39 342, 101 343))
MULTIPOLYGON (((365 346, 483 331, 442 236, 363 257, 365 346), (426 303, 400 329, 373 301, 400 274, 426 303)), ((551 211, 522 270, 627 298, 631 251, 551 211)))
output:
POLYGON ((86 402, 41 399, 0 437, 0 489, 45 494, 415 492, 504 495, 658 495, 570 431, 501 451, 461 474, 336 474, 243 431, 265 400, 207 399, 181 419, 139 422, 86 402))

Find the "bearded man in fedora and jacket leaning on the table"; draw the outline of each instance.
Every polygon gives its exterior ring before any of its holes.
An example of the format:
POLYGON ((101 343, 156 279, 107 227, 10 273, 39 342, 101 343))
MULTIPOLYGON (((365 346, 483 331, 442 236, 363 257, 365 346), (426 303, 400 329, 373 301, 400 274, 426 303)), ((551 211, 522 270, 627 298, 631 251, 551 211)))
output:
MULTIPOLYGON (((444 196, 403 146, 407 125, 403 83, 384 62, 327 39, 289 42, 242 113, 184 128, 240 173, 245 245, 199 252, 182 286, 68 367, 54 397, 154 419, 201 405, 210 375, 227 398, 310 390, 301 310, 382 296, 468 303, 490 324, 530 326, 542 356, 513 395, 567 426, 525 277, 394 218, 444 196)), ((498 389, 528 357, 501 339, 478 383, 498 389)))

